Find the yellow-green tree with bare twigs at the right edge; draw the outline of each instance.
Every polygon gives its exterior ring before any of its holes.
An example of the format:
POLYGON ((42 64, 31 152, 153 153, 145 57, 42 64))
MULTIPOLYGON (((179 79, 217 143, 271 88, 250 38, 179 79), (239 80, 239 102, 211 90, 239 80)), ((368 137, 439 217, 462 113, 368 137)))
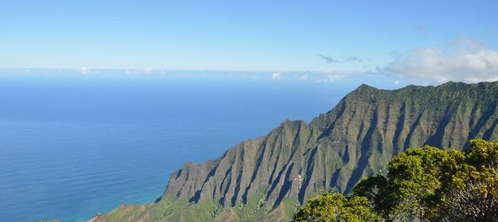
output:
POLYGON ((470 140, 467 170, 454 176, 441 221, 498 221, 498 142, 470 140))

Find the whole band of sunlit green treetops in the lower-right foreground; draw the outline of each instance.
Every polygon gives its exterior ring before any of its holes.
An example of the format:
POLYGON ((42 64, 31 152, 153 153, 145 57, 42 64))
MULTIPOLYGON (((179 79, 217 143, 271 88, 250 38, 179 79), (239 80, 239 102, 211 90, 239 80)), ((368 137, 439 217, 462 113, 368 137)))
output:
POLYGON ((351 196, 313 198, 293 221, 498 221, 498 141, 469 143, 467 151, 408 149, 387 176, 363 178, 351 196))

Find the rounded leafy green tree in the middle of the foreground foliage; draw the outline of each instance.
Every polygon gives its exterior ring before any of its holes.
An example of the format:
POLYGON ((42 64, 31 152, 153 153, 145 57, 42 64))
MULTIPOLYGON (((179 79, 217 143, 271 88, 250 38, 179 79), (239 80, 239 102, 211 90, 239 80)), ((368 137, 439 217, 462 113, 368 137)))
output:
POLYGON ((454 183, 453 176, 465 169, 464 163, 461 151, 430 146, 409 149, 392 158, 384 191, 390 208, 385 211, 393 221, 403 221, 400 215, 418 221, 437 218, 439 208, 445 205, 445 194, 454 183))

